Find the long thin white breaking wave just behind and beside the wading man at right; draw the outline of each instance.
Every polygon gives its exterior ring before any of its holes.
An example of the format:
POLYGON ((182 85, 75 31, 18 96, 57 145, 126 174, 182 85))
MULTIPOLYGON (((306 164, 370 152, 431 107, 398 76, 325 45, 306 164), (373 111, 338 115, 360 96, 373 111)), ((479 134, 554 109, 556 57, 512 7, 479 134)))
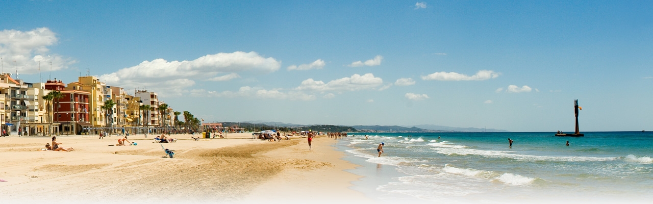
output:
MULTIPOLYGON (((436 143, 438 144, 438 143, 436 143)), ((433 145, 432 145, 433 146, 433 145)), ((536 156, 526 154, 512 154, 509 151, 476 150, 470 148, 433 148, 438 154, 446 155, 478 155, 489 158, 511 158, 526 161, 613 161, 618 157, 586 157, 586 156, 536 156)))

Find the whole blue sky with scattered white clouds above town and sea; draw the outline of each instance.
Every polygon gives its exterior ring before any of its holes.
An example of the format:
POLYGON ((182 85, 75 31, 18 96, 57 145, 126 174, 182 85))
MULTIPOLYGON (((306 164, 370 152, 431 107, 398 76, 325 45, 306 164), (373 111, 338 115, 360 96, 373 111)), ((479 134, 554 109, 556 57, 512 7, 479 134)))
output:
POLYGON ((88 71, 207 122, 572 131, 579 99, 581 131, 653 130, 650 1, 0 6, 3 71, 88 71))

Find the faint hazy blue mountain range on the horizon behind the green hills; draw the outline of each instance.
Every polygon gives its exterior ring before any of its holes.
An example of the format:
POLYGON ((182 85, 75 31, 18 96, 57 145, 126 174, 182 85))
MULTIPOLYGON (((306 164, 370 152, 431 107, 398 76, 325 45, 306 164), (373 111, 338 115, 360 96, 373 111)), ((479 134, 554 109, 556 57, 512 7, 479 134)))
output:
MULTIPOLYGON (((277 127, 308 127, 313 125, 302 124, 287 124, 283 122, 266 122, 266 121, 247 121, 251 124, 265 124, 267 126, 277 127)), ((492 128, 476 128, 476 127, 449 127, 449 126, 436 126, 436 125, 417 125, 417 126, 349 126, 354 127, 358 131, 374 131, 374 132, 509 132, 505 129, 492 129, 492 128)))

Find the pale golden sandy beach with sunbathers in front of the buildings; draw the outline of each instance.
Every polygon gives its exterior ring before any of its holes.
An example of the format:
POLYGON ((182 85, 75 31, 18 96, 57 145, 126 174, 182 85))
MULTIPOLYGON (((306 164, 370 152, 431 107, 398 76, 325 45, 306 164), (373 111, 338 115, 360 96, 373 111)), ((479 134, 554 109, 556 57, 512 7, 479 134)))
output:
MULTIPOLYGON (((197 135, 195 135, 197 136, 197 135)), ((0 137, 0 197, 8 203, 330 203, 371 199, 351 190, 356 166, 340 160, 333 139, 317 137, 268 142, 249 133, 194 141, 172 135, 175 150, 164 158, 155 135, 61 135, 71 152, 40 150, 50 137, 0 137)))

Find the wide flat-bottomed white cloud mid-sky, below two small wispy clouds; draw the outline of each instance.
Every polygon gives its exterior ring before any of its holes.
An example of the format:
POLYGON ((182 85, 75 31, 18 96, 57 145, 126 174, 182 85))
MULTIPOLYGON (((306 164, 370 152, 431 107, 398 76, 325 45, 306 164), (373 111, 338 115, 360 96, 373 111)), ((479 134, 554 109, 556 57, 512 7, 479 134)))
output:
POLYGON ((351 77, 340 78, 325 83, 321 80, 316 81, 313 78, 304 80, 296 90, 308 90, 317 92, 326 91, 355 91, 373 89, 383 84, 383 79, 374 77, 372 73, 365 75, 352 75, 351 77))

